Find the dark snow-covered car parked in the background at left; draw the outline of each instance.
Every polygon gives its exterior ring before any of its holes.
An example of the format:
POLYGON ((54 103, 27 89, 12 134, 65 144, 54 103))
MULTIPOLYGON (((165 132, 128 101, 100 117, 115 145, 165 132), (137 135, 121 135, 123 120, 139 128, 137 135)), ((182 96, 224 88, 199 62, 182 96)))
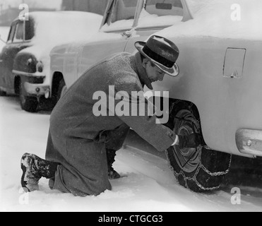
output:
POLYGON ((42 97, 56 103, 61 79, 50 75, 50 51, 57 44, 88 39, 102 16, 76 11, 32 12, 16 18, 0 54, 0 93, 16 94, 22 109, 36 112, 42 97))

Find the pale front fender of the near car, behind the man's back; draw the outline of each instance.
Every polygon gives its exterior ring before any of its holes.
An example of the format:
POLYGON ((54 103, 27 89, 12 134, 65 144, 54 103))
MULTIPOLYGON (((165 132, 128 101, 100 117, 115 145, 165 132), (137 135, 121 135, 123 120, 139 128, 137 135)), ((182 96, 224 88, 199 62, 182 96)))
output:
POLYGON ((100 42, 76 42, 54 47, 51 56, 51 74, 60 72, 69 88, 91 66, 111 54, 123 52, 126 38, 108 34, 100 42))

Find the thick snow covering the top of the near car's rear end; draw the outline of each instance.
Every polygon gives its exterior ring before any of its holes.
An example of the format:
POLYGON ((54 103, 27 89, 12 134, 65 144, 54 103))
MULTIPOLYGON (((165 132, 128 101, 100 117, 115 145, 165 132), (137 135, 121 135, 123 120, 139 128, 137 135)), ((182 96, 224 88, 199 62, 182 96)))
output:
POLYGON ((188 3, 194 19, 157 32, 158 35, 262 39, 261 0, 188 0, 188 3))

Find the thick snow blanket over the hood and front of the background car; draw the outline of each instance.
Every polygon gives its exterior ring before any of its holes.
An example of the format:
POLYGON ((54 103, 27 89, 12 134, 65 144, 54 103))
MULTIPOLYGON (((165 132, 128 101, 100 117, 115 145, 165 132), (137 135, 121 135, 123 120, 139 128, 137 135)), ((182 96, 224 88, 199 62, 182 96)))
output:
POLYGON ((35 21, 35 36, 32 46, 20 52, 30 52, 44 64, 44 73, 49 72, 51 50, 61 44, 88 40, 95 35, 102 16, 80 11, 32 12, 35 21))

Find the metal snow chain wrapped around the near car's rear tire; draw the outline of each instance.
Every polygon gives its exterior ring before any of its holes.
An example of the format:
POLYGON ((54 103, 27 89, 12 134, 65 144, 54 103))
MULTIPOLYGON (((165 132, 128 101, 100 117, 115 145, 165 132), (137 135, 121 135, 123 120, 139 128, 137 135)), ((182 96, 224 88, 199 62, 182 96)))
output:
MULTIPOLYGON (((170 107, 170 116, 172 116, 172 110, 174 109, 174 105, 177 105, 179 102, 181 102, 180 100, 177 100, 176 102, 173 102, 172 106, 170 107)), ((192 106, 193 104, 189 105, 189 110, 191 112, 192 111, 192 106)), ((199 120, 197 120, 198 123, 200 123, 199 120)), ((198 147, 199 148, 199 147, 198 147)), ((198 154, 201 152, 201 148, 198 149, 198 154)), ((196 185, 202 189, 203 191, 214 191, 216 189, 219 189, 220 186, 215 186, 215 187, 210 187, 210 188, 205 188, 204 186, 202 186, 196 179, 196 177, 198 176, 198 173, 200 171, 200 169, 203 169, 204 172, 206 172, 207 174, 209 174, 211 177, 220 177, 220 176, 225 176, 226 174, 228 174, 230 172, 230 166, 231 166, 231 162, 232 162, 232 155, 230 155, 230 163, 229 163, 229 166, 228 166, 228 169, 225 170, 225 171, 222 171, 222 172, 210 172, 208 169, 206 169, 206 167, 202 164, 202 161, 200 161, 199 163, 199 167, 198 169, 196 169, 196 173, 193 175, 193 177, 186 177, 186 175, 184 174, 183 172, 183 169, 181 169, 181 171, 179 173, 175 172, 174 170, 174 167, 172 167, 170 161, 169 161, 169 157, 168 157, 168 153, 167 153, 167 150, 165 150, 165 154, 167 155, 167 162, 168 162, 168 165, 169 165, 169 168, 172 170, 173 174, 175 175, 175 177, 178 179, 179 176, 181 175, 183 178, 184 178, 184 182, 186 184, 186 188, 189 189, 189 186, 187 185, 187 182, 188 181, 193 181, 196 183, 196 185)))

